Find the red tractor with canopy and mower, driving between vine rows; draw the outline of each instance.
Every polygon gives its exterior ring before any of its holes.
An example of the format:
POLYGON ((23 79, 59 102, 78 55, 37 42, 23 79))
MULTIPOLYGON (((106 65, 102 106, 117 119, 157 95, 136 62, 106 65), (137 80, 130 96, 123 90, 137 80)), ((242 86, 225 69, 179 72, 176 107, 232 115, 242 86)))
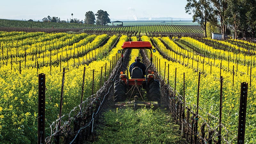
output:
POLYGON ((121 53, 122 65, 124 66, 123 53, 127 49, 145 49, 150 51, 150 65, 146 68, 146 75, 143 75, 142 69, 135 67, 131 70, 131 78, 128 75, 128 68, 126 69, 126 74, 121 71, 120 79, 115 81, 114 86, 114 101, 116 106, 125 106, 128 104, 133 104, 134 107, 137 105, 141 106, 156 106, 160 105, 161 100, 161 85, 159 80, 155 79, 154 71, 149 70, 152 66, 152 45, 146 41, 133 41, 124 42, 122 45, 122 50, 118 50, 121 53), (146 95, 147 99, 143 98, 146 95), (128 102, 126 99, 128 98, 128 102), (132 98, 134 98, 132 100, 132 98))

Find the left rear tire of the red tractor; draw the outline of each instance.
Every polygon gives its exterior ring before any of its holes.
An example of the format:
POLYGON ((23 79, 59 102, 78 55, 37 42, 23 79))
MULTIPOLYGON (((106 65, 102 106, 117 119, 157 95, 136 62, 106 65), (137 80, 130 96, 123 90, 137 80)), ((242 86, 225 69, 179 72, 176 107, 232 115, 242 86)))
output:
POLYGON ((116 80, 114 85, 114 101, 120 102, 126 99, 126 84, 122 80, 116 80))

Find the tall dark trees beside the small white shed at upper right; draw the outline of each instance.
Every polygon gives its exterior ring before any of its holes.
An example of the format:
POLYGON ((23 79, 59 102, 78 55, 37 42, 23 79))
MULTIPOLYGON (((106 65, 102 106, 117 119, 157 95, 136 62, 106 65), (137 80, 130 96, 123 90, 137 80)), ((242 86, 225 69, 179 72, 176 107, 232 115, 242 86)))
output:
POLYGON ((255 0, 187 0, 186 13, 193 16, 207 37, 207 31, 224 35, 234 34, 234 38, 255 37, 255 0))

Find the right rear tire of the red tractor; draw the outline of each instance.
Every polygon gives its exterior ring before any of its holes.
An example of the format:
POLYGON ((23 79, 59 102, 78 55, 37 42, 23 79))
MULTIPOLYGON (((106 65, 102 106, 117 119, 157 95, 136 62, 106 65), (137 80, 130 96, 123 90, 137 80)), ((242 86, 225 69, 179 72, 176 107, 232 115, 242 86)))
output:
POLYGON ((159 80, 152 79, 148 85, 148 94, 149 101, 157 101, 158 104, 161 102, 161 85, 159 80))

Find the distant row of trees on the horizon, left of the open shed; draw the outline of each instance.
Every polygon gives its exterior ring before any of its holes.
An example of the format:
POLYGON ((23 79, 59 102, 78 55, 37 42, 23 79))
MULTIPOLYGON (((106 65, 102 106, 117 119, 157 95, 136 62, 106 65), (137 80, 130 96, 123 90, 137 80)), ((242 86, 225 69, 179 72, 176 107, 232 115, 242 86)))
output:
POLYGON ((43 22, 63 22, 63 23, 85 23, 85 24, 95 24, 96 25, 107 25, 110 22, 109 19, 109 14, 107 11, 103 11, 103 10, 98 10, 98 12, 96 14, 94 14, 92 11, 88 11, 85 13, 85 19, 84 22, 83 20, 79 20, 74 18, 73 19, 73 13, 71 13, 72 19, 70 19, 69 21, 67 20, 60 20, 59 17, 51 17, 51 16, 47 16, 45 18, 43 18, 43 22), (97 20, 95 19, 95 16, 97 17, 97 20), (95 22, 96 20, 96 22, 95 22))

